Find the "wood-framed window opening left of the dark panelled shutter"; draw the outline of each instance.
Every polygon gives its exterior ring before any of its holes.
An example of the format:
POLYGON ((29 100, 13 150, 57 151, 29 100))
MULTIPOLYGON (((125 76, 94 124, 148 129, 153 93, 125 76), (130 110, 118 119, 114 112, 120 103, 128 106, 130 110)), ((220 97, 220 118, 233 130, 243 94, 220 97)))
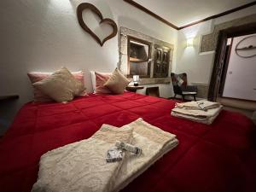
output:
POLYGON ((128 77, 150 78, 151 43, 128 36, 128 77))

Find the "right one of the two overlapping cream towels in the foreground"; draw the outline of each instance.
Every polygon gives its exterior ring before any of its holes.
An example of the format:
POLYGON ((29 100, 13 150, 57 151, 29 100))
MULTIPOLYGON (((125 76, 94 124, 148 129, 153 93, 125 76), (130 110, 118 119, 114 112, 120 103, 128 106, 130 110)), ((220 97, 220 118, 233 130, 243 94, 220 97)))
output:
MULTIPOLYGON (((162 131, 160 128, 148 124, 143 119, 137 119, 129 125, 133 129, 133 145, 143 149, 143 154, 136 156, 126 154, 126 158, 119 170, 113 191, 119 191, 133 179, 138 177, 149 166, 153 165, 164 154, 177 147, 178 140, 175 135, 162 131)), ((125 127, 124 126, 124 127, 125 127)))

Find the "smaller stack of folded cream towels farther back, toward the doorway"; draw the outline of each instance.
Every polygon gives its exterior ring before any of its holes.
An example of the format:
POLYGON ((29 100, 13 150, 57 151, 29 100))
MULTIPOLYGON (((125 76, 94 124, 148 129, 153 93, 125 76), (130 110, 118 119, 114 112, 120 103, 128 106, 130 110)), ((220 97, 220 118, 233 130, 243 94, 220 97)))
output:
POLYGON ((211 125, 223 106, 218 102, 200 101, 176 103, 172 116, 211 125))

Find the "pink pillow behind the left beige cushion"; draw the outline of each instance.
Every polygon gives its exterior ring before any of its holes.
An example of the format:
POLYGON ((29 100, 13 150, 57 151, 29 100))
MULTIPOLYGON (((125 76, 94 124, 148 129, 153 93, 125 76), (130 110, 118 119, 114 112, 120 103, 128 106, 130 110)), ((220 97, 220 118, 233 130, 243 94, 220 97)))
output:
MULTIPOLYGON (((52 73, 48 72, 30 72, 27 73, 27 76, 29 77, 30 81, 32 84, 41 81, 45 78, 48 78, 52 73)), ((78 79, 83 85, 84 85, 84 73, 82 71, 78 72, 72 72, 73 76, 75 79, 78 79)), ((52 102, 53 100, 45 95, 42 91, 38 90, 37 88, 34 87, 33 89, 34 92, 34 102, 52 102)), ((86 96, 87 93, 84 90, 83 93, 81 93, 81 96, 86 96)))

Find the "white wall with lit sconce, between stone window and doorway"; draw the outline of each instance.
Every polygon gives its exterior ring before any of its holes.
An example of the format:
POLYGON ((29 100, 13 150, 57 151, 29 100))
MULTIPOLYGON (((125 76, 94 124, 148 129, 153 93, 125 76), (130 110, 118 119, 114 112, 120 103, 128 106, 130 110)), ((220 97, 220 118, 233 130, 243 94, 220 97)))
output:
POLYGON ((214 52, 199 54, 201 36, 211 33, 214 25, 255 13, 256 5, 178 31, 177 57, 174 64, 176 66, 173 66, 173 71, 176 73, 188 73, 189 83, 209 84, 212 74, 214 52), (194 38, 194 47, 186 48, 185 44, 187 38, 194 38))

